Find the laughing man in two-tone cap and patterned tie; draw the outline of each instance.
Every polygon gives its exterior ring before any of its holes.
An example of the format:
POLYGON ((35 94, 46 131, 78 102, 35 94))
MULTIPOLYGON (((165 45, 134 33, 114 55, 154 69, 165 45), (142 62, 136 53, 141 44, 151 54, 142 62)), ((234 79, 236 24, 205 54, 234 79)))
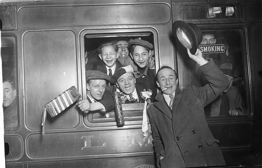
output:
MULTIPOLYGON (((134 71, 131 65, 121 67, 111 78, 111 83, 115 84, 121 92, 127 97, 125 103, 144 103, 140 92, 145 88, 136 83, 134 71)), ((152 98, 151 98, 152 99, 152 98)))

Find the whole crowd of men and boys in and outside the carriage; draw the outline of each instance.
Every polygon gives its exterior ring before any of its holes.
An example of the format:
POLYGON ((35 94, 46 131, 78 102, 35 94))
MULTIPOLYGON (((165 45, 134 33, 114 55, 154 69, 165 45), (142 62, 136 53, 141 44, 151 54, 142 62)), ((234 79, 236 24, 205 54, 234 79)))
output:
MULTIPOLYGON (((204 33, 201 44, 216 43, 213 34, 204 33)), ((211 134, 208 116, 244 115, 242 98, 233 81, 232 63, 203 57, 197 50, 188 56, 196 62, 202 87, 178 87, 178 76, 169 66, 155 72, 154 46, 142 39, 103 42, 85 57, 87 100, 79 100, 81 111, 96 111, 109 117, 115 108, 112 92, 121 103, 144 103, 143 89, 152 91, 153 102, 147 114, 151 123, 153 145, 159 167, 196 167, 225 165, 219 140, 211 134), (156 74, 156 75, 155 75, 156 74), (160 92, 156 94, 156 88, 160 92), (207 113, 206 113, 207 115, 207 113), (200 124, 201 123, 201 124, 200 124)), ((14 83, 3 80, 5 127, 17 126, 17 100, 14 83)))

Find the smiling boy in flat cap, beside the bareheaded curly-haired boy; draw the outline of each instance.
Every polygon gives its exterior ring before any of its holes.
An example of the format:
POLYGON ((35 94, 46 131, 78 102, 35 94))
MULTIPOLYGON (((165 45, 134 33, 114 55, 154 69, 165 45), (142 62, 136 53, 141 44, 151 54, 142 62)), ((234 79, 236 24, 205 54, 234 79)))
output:
POLYGON ((137 71, 134 71, 136 83, 151 89, 153 92, 152 97, 154 98, 156 95, 156 85, 153 45, 142 39, 132 39, 129 41, 129 47, 130 56, 137 65, 137 71))

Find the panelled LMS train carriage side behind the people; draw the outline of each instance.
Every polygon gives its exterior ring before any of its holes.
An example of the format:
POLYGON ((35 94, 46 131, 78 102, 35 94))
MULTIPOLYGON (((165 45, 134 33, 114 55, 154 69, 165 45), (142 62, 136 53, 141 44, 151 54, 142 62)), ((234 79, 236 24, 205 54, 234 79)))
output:
POLYGON ((156 71, 167 65, 180 88, 202 86, 173 36, 177 20, 227 46, 227 53, 205 57, 231 61, 244 112, 206 120, 227 166, 261 165, 261 1, 18 0, 1 1, 0 9, 3 78, 14 81, 17 102, 17 121, 4 128, 6 167, 157 167, 152 137, 141 131, 143 103, 122 105, 123 127, 115 111, 108 118, 83 114, 74 103, 47 114, 42 135, 42 116, 46 103, 71 86, 87 99, 85 53, 106 41, 149 41, 156 71))

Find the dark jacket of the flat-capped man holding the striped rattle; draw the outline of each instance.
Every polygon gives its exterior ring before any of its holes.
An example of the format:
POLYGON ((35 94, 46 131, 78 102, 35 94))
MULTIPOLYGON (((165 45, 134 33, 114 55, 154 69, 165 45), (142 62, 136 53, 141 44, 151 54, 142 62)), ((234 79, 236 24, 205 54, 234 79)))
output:
MULTIPOLYGON (((87 96, 87 100, 89 101, 89 103, 91 103, 91 100, 89 99, 89 97, 87 96)), ((114 99, 113 99, 113 94, 108 91, 105 90, 105 93, 102 97, 101 100, 97 100, 97 102, 100 102, 106 109, 106 111, 100 111, 100 112, 109 112, 111 110, 113 110, 115 108, 115 103, 114 103, 114 99)))

